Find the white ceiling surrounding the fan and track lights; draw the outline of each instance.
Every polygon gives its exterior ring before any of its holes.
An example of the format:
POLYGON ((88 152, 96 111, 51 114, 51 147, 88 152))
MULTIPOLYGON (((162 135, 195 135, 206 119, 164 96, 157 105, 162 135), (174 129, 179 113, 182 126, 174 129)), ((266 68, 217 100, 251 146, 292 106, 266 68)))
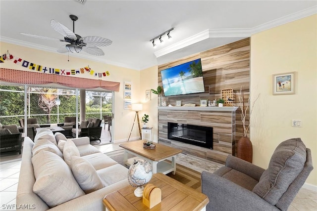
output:
POLYGON ((76 34, 112 44, 100 47, 104 56, 73 56, 142 70, 316 13, 317 0, 0 0, 0 41, 56 52, 65 42, 20 33, 63 39, 50 22, 72 30, 74 14, 76 34), (150 40, 172 27, 172 40, 153 48, 150 40))

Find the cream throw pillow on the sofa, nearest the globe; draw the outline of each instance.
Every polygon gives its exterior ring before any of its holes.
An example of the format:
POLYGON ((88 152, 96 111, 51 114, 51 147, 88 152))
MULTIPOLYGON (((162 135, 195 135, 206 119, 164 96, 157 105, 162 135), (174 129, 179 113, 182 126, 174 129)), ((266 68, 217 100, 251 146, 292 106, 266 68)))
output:
POLYGON ((105 187, 96 169, 85 159, 73 156, 71 170, 79 186, 86 194, 105 187))

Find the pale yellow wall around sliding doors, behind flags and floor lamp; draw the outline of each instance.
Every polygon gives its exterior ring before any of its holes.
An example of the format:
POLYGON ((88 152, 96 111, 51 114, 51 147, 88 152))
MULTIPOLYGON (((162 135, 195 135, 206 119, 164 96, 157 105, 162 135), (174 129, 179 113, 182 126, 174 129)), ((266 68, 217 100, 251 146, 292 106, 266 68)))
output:
MULTIPOLYGON (((77 69, 89 65, 89 67, 96 72, 102 73, 105 71, 109 71, 110 75, 107 77, 103 77, 102 80, 120 83, 120 90, 118 92, 114 92, 114 141, 126 141, 128 139, 135 113, 131 110, 124 109, 123 86, 124 82, 131 82, 132 102, 139 102, 140 97, 143 96, 143 94, 140 94, 140 71, 71 56, 69 57, 69 61, 67 61, 68 57, 64 54, 52 53, 29 47, 23 47, 20 45, 10 44, 6 42, 0 42, 1 55, 6 53, 7 50, 13 56, 17 56, 26 61, 33 62, 35 64, 39 64, 46 67, 58 69, 77 69)), ((4 63, 0 63, 0 67, 32 71, 22 67, 21 65, 17 65, 12 61, 5 61, 4 63)), ((74 80, 75 77, 99 79, 97 77, 90 75, 89 73, 79 74, 73 77, 74 80)), ((137 127, 134 127, 131 138, 136 138, 138 134, 137 131, 137 127)))

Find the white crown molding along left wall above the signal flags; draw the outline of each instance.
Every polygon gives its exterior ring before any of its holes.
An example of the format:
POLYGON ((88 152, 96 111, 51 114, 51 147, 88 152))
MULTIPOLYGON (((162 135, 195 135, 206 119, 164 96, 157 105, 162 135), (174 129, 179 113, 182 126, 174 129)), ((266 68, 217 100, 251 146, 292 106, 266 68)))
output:
MULTIPOLYGON (((35 48, 38 50, 44 50, 44 51, 48 51, 48 52, 52 52, 52 53, 57 53, 57 54, 62 54, 65 55, 63 53, 58 53, 56 51, 56 48, 53 47, 47 47, 44 45, 40 45, 40 44, 34 44, 31 42, 22 42, 19 40, 15 40, 15 39, 11 39, 11 38, 7 38, 7 37, 0 37, 0 42, 7 42, 7 43, 11 43, 11 44, 16 44, 16 45, 21 45, 24 47, 30 47, 30 48, 35 48)), ((131 65, 131 64, 123 64, 123 63, 118 63, 118 62, 113 62, 113 61, 109 61, 106 59, 102 59, 102 58, 98 58, 92 55, 84 55, 84 54, 80 54, 80 53, 72 53, 71 54, 72 57, 76 57, 76 58, 81 58, 81 59, 87 59, 90 61, 95 61, 95 62, 101 62, 101 63, 105 63, 105 64, 110 64, 110 65, 114 65, 114 66, 118 66, 118 67, 124 67, 124 68, 129 68, 129 69, 134 69, 134 70, 140 70, 140 67, 131 65)))

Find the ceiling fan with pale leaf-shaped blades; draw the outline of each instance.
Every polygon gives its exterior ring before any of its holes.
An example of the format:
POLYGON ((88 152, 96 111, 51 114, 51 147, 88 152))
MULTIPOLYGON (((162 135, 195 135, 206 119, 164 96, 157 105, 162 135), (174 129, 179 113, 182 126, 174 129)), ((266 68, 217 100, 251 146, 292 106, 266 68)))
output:
POLYGON ((81 37, 75 34, 75 21, 78 20, 78 17, 76 15, 69 15, 69 17, 73 21, 73 31, 68 29, 63 24, 58 23, 55 20, 51 20, 51 27, 56 32, 64 36, 64 40, 60 40, 58 38, 40 36, 40 35, 31 35, 27 33, 20 33, 20 34, 30 36, 30 37, 35 37, 35 38, 47 39, 47 40, 58 40, 60 42, 69 42, 69 44, 62 45, 57 49, 57 52, 59 53, 66 53, 66 52, 79 53, 81 50, 83 50, 86 53, 89 53, 95 56, 105 55, 104 51, 98 48, 97 46, 107 46, 107 45, 110 45, 112 41, 106 38, 97 37, 97 36, 81 37))

